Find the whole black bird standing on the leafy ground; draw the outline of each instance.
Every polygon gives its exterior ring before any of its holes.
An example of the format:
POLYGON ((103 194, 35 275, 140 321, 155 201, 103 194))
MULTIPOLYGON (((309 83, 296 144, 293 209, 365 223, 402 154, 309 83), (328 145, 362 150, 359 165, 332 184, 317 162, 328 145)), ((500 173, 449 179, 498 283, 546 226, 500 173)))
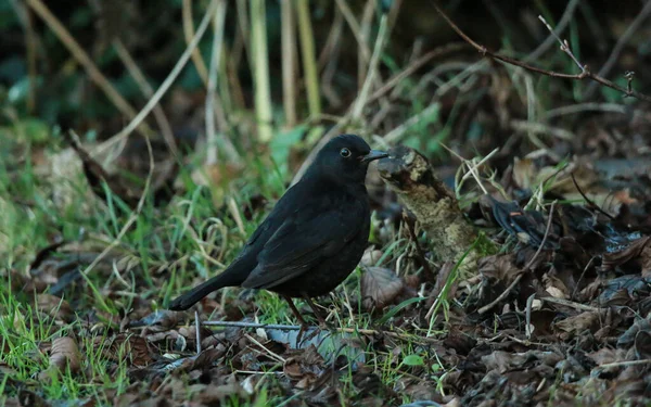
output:
POLYGON ((370 228, 367 169, 386 156, 355 135, 330 140, 231 265, 174 300, 169 309, 188 309, 215 290, 243 287, 280 294, 305 326, 292 302, 302 297, 323 323, 310 297, 334 290, 359 263, 370 228))

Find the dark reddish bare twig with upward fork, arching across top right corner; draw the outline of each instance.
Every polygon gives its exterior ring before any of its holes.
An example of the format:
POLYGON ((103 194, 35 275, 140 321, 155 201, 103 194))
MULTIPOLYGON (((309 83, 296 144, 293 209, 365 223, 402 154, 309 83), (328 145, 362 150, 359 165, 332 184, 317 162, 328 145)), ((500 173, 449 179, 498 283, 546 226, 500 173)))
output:
MULTIPOLYGON (((567 41, 561 41, 561 49, 563 50, 563 52, 567 53, 574 61, 575 63, 580 67, 582 73, 580 74, 563 74, 563 73, 559 73, 559 72, 554 72, 554 71, 548 71, 548 69, 542 69, 540 67, 534 66, 534 65, 529 65, 525 62, 522 62, 520 60, 510 58, 510 56, 506 56, 493 51, 489 51, 486 47, 475 42, 472 38, 470 38, 465 33, 463 33, 461 30, 461 28, 459 28, 451 20, 450 17, 448 17, 448 15, 446 13, 443 12, 443 10, 441 10, 436 4, 434 4, 434 8, 436 9, 436 12, 438 12, 438 14, 441 14, 441 16, 446 21, 446 23, 461 37, 463 38, 468 43, 470 43, 473 48, 475 48, 477 51, 480 51, 480 53, 482 53, 483 56, 488 56, 490 59, 497 60, 497 61, 501 61, 505 62, 507 64, 510 65, 515 65, 515 66, 520 66, 522 68, 525 68, 527 71, 531 72, 535 72, 541 75, 547 75, 547 76, 551 76, 551 77, 556 77, 556 78, 564 78, 564 79, 573 79, 573 80, 583 80, 585 78, 588 78, 590 80, 593 80, 602 86, 605 86, 608 88, 611 89, 615 89, 622 93, 624 93, 625 96, 628 97, 633 97, 639 100, 643 100, 647 102, 651 102, 651 97, 640 93, 638 91, 635 90, 628 90, 624 87, 621 87, 605 78, 602 78, 599 75, 595 75, 592 74, 587 65, 583 65, 580 62, 578 62, 578 60, 576 60, 576 58, 574 58, 574 54, 572 54, 572 51, 570 50, 570 47, 567 44, 567 41)), ((553 29, 551 30, 551 33, 553 33, 553 29)), ((553 35, 556 35, 556 33, 553 33, 553 35)), ((560 38, 559 38, 560 39, 560 38)))

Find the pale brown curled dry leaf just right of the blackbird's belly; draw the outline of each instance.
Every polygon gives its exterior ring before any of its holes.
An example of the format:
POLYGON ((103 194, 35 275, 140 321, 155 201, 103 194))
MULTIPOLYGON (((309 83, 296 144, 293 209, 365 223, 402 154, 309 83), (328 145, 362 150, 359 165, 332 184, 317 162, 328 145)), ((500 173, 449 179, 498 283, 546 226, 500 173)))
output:
POLYGON ((384 267, 367 267, 361 275, 361 300, 367 310, 382 309, 405 288, 396 274, 384 267))

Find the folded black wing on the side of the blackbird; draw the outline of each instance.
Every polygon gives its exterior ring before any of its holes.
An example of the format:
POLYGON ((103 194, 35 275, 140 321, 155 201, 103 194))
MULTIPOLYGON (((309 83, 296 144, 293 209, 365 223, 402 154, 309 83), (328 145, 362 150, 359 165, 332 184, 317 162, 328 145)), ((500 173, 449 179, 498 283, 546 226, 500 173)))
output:
POLYGON ((356 207, 318 207, 288 216, 269 238, 257 259, 257 267, 242 284, 269 289, 336 255, 358 233, 363 232, 365 211, 356 207))

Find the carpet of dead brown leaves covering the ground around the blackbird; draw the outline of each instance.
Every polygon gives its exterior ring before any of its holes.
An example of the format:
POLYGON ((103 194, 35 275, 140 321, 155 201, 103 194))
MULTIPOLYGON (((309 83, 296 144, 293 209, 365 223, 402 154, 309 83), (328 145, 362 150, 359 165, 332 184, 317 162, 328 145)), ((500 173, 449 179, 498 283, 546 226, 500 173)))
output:
MULTIPOLYGON (((309 405, 336 405, 345 377, 357 390, 355 403, 362 405, 397 405, 400 394, 449 406, 538 405, 550 399, 563 405, 576 397, 597 405, 648 400, 651 236, 643 222, 635 228, 630 221, 643 218, 637 208, 641 200, 612 199, 605 213, 604 207, 591 206, 599 202, 597 193, 590 194, 591 203, 561 203, 550 213, 538 192, 531 191, 540 179, 556 174, 544 193, 557 200, 576 192, 579 185, 580 194, 589 194, 597 179, 567 183, 563 179, 570 175, 536 163, 540 161, 515 161, 512 181, 502 180, 511 186, 507 193, 513 200, 496 190, 478 195, 481 211, 467 208, 469 220, 505 247, 481 256, 476 274, 457 277, 455 263, 439 263, 426 233, 419 230, 416 237, 404 221, 385 222, 381 228, 386 230, 365 254, 359 297, 350 297, 347 309, 337 308, 344 300, 336 294, 321 302, 331 314, 339 309, 355 318, 369 315, 369 328, 315 328, 302 341, 297 330, 282 327, 201 326, 199 344, 193 316, 151 311, 150 301, 141 298, 135 298, 135 308, 122 321, 99 310, 77 309, 75 292, 87 290, 80 269, 101 245, 54 242, 37 254, 28 275, 12 271, 13 287, 37 292, 34 309, 40 318, 60 327, 80 323, 86 328, 77 338, 93 329, 105 335, 86 336, 91 341, 81 344, 64 335, 41 344, 49 367, 39 377, 52 380, 51 374, 66 369, 79 374, 88 369, 80 355, 92 344, 108 364, 125 366, 132 383, 148 383, 116 395, 115 405, 125 406, 145 399, 153 405, 251 399, 261 386, 309 405), (385 256, 382 247, 400 239, 401 257, 385 256), (426 277, 423 262, 436 271, 434 281, 426 277), (425 301, 411 301, 419 298, 425 301), (436 304, 443 305, 433 311, 436 304), (404 376, 385 383, 373 368, 378 363, 404 376), (156 397, 148 398, 152 390, 156 397)), ((108 297, 124 280, 119 277, 129 272, 129 253, 114 250, 98 265, 95 272, 118 277, 103 289, 108 297)), ((246 302, 235 300, 233 305, 246 302)), ((232 315, 225 305, 229 306, 206 298, 200 309, 232 315)), ((205 320, 207 314, 200 315, 205 320)), ((2 374, 11 376, 11 369, 2 374)), ((38 386, 24 390, 21 397, 37 403, 38 386)))

